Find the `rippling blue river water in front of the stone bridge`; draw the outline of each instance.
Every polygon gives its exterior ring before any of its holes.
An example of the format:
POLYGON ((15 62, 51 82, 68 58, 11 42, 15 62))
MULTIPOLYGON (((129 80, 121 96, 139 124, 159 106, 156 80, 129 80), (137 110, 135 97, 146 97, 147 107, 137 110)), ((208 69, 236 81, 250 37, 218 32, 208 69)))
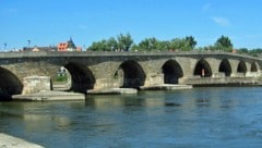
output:
POLYGON ((262 146, 262 87, 0 102, 0 133, 47 148, 262 146))

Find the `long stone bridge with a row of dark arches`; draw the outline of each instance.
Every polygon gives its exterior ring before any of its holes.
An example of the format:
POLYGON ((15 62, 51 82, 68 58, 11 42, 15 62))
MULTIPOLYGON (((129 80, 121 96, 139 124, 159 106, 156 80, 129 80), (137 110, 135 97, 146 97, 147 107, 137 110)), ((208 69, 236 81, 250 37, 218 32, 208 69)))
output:
POLYGON ((1 52, 0 94, 21 94, 24 77, 55 77, 61 66, 71 75, 71 89, 86 92, 160 84, 258 83, 261 65, 261 59, 225 52, 1 52))

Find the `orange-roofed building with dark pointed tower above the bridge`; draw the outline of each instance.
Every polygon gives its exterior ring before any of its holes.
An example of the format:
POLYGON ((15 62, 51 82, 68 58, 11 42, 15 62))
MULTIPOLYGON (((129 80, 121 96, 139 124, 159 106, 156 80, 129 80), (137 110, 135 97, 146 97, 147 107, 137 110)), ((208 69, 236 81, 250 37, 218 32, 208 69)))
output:
POLYGON ((70 38, 69 41, 67 42, 60 42, 57 46, 57 51, 60 52, 67 52, 67 51, 82 51, 82 48, 76 47, 72 40, 72 38, 70 38))

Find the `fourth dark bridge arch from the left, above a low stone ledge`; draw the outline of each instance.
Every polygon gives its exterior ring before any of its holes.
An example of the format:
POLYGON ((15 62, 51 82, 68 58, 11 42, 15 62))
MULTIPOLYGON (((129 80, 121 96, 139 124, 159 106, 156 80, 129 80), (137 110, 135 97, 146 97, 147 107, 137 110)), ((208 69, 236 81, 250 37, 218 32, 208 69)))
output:
POLYGON ((183 76, 183 71, 180 64, 175 60, 168 60, 162 66, 162 72, 164 73, 165 84, 178 84, 179 78, 183 76))

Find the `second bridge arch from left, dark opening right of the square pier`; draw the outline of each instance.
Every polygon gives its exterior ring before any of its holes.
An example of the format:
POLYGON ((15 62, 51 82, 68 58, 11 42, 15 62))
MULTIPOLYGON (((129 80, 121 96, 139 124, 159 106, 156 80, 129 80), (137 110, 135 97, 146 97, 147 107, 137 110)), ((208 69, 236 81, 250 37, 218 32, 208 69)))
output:
POLYGON ((92 71, 80 63, 68 63, 64 67, 69 71, 71 79, 71 89, 78 92, 86 92, 93 89, 96 83, 92 71))

